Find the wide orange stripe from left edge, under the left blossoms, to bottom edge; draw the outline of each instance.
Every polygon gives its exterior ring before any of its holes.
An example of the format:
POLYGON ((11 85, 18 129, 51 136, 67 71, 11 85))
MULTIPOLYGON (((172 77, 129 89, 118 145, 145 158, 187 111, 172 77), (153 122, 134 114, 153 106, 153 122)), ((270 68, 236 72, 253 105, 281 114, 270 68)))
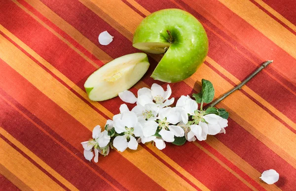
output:
MULTIPOLYGON (((57 80, 52 78, 50 74, 44 71, 40 66, 38 66, 23 52, 17 49, 3 36, 0 36, 0 39, 0 55, 4 62, 9 64, 29 82, 36 86, 43 94, 56 102, 60 107, 62 107, 88 129, 92 130, 92 128, 95 127, 95 124, 99 124, 104 127, 102 121, 104 121, 105 125, 106 119, 98 115, 95 110, 85 104, 81 99, 75 96, 57 80), (18 57, 13 57, 13 59, 11 59, 11 54, 18 55, 18 57), (27 68, 30 68, 30 70, 27 68), (47 81, 48 83, 43 83, 44 81, 47 81), (74 108, 72 105, 74 105, 74 108), (84 112, 77 112, 75 108, 81 108, 80 110, 83 110, 84 112), (98 118, 100 121, 98 121, 98 118)), ((194 190, 191 185, 189 185, 185 180, 179 177, 175 172, 173 172, 159 160, 155 159, 155 157, 148 153, 147 150, 143 149, 141 146, 139 146, 138 150, 138 152, 133 154, 129 152, 123 152, 120 154, 135 164, 152 180, 157 182, 165 189, 173 187, 180 190, 194 190), (147 163, 150 165, 147 166, 147 163), (163 173, 158 173, 159 170, 161 170, 163 173)))

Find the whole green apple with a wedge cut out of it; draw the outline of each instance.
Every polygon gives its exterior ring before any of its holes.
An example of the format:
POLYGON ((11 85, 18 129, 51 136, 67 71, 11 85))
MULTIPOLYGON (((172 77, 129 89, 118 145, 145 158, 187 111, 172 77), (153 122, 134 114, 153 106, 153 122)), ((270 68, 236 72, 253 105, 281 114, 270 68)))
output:
POLYGON ((163 54, 164 47, 169 47, 151 75, 163 82, 180 82, 190 77, 204 62, 209 49, 201 23, 181 9, 163 9, 146 17, 134 33, 133 46, 154 54, 163 54))

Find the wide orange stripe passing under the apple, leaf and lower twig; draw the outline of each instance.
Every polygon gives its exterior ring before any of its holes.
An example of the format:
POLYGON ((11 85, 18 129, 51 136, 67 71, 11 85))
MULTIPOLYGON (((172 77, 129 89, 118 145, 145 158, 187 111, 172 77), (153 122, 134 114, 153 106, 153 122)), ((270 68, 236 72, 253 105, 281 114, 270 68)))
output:
MULTIPOLYGON (((85 0, 79 0, 79 1, 81 1, 82 3, 85 3, 84 2, 85 0)), ((115 14, 112 14, 112 10, 108 9, 110 3, 108 4, 106 3, 97 3, 96 5, 100 6, 100 9, 108 11, 109 15, 115 16, 115 14)), ((133 24, 130 24, 131 27, 126 28, 129 30, 130 33, 132 33, 133 30, 135 30, 135 26, 138 25, 137 22, 139 20, 142 20, 143 18, 139 14, 135 14, 135 11, 133 11, 130 7, 126 7, 127 5, 124 5, 124 3, 121 1, 120 2, 112 1, 111 4, 112 3, 116 3, 117 6, 119 7, 124 7, 125 12, 123 13, 126 13, 124 17, 122 16, 123 15, 122 13, 121 17, 113 18, 113 19, 115 21, 118 21, 119 23, 121 23, 121 20, 120 20, 121 18, 125 18, 125 19, 128 18, 130 21, 133 21, 133 24), (127 12, 128 10, 129 12, 127 12)), ((85 3, 85 5, 89 6, 89 3, 85 3)), ((94 6, 94 4, 91 4, 91 7, 88 7, 88 8, 95 11, 95 13, 99 15, 100 13, 97 12, 98 10, 97 6, 94 6)), ((110 7, 113 7, 113 6, 115 5, 111 5, 110 7)), ((126 37, 130 38, 129 35, 126 37)), ((218 96, 222 95, 224 92, 227 92, 229 89, 232 88, 232 86, 227 81, 225 81, 221 76, 219 76, 216 72, 214 72, 205 64, 203 64, 199 68, 199 70, 195 74, 193 74, 193 76, 186 79, 185 83, 188 84, 191 88, 194 88, 194 83, 196 81, 201 81, 202 77, 205 79, 211 80, 212 82, 214 82, 213 84, 215 83, 224 84, 224 86, 221 85, 219 87, 216 87, 217 88, 216 95, 218 96)), ((195 90, 198 91, 196 88, 195 90)), ((281 124, 279 121, 277 121, 275 118, 273 118, 270 114, 268 114, 264 109, 259 107, 255 102, 253 102, 247 96, 243 95, 240 92, 236 92, 234 94, 238 95, 235 100, 241 100, 240 102, 238 101, 230 102, 231 99, 229 98, 224 100, 224 102, 228 100, 227 108, 235 112, 235 114, 231 116, 231 118, 234 119, 239 125, 244 127, 246 130, 248 130, 255 137, 259 138, 261 142, 263 142, 266 146, 272 149, 275 153, 277 153, 287 162, 296 166, 296 162, 295 162, 296 153, 293 152, 293 148, 296 148, 296 142, 295 141, 293 142, 293 140, 296 139, 296 135, 293 132, 291 132, 287 127, 285 127, 283 124, 281 124), (245 103, 246 108, 241 109, 240 103, 245 103), (254 113, 253 111, 257 111, 257 113, 253 114, 254 113), (262 118, 259 119, 260 116, 262 116, 262 118), (246 122, 249 122, 250 124, 246 122), (265 127, 265 124, 271 124, 271 125, 269 127, 262 128, 262 127, 265 127), (253 128, 257 129, 257 131, 254 131, 253 128), (279 131, 279 133, 275 133, 274 132, 275 130, 279 131), (290 141, 284 141, 287 138, 290 141)), ((233 97, 233 95, 231 96, 233 97)))

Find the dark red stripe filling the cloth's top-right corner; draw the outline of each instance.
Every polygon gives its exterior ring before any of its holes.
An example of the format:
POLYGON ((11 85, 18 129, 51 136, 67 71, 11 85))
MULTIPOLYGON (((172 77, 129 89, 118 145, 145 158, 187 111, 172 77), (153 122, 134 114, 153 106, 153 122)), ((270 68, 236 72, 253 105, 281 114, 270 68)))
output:
POLYGON ((284 16, 291 23, 296 25, 296 17, 295 17, 296 4, 294 0, 262 0, 262 1, 264 1, 271 8, 273 8, 282 16, 284 16))

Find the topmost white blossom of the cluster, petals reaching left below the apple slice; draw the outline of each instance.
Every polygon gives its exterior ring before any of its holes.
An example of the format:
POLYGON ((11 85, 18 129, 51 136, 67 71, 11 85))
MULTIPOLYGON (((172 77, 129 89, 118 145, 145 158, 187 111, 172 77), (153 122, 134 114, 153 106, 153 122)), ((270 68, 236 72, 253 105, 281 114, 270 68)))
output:
POLYGON ((130 91, 124 91, 118 94, 121 100, 127 103, 135 103, 145 107, 146 104, 155 104, 156 109, 169 106, 174 103, 175 98, 169 99, 172 94, 170 85, 167 85, 167 91, 158 84, 152 84, 151 90, 148 88, 141 88, 138 90, 138 98, 136 98, 130 91))

